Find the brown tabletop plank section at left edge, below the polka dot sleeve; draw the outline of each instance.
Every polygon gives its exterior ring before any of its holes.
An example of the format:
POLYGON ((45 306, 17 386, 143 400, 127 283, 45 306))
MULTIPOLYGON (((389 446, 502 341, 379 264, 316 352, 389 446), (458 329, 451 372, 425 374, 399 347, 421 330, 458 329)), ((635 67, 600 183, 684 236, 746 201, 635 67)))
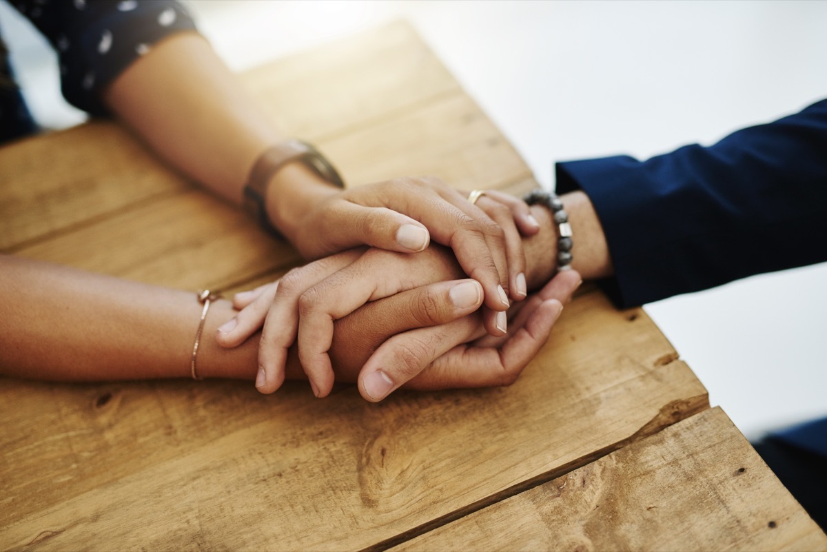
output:
POLYGON ((189 189, 127 132, 98 121, 0 147, 0 251, 189 189))

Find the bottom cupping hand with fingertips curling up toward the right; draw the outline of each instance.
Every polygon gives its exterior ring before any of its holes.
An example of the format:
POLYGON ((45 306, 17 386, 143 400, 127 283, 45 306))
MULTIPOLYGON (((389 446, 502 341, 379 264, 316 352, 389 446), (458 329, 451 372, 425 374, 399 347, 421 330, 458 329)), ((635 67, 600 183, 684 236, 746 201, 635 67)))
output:
MULTIPOLYGON (((370 402, 399 387, 508 385, 545 344, 562 304, 579 283, 573 270, 557 274, 539 293, 509 309, 509 334, 499 338, 485 335, 479 313, 468 315, 481 302, 480 284, 473 280, 433 283, 370 302, 335 322, 330 355, 336 379, 358 382, 370 402), (473 300, 457 302, 458 296, 473 300)), ((256 293, 275 285, 237 295, 235 306, 250 305, 256 293)), ((286 373, 288 378, 303 376, 295 347, 286 373)))

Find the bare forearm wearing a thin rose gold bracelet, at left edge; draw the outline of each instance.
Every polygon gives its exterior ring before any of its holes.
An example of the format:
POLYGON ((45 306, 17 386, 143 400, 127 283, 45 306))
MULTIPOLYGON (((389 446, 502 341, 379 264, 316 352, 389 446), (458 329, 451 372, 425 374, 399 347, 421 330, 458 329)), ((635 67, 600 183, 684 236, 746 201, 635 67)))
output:
MULTIPOLYGON (((0 368, 51 380, 189 377, 201 309, 195 293, 0 255, 0 368)), ((233 350, 212 339, 234 313, 211 305, 199 375, 255 378, 256 338, 233 350)))

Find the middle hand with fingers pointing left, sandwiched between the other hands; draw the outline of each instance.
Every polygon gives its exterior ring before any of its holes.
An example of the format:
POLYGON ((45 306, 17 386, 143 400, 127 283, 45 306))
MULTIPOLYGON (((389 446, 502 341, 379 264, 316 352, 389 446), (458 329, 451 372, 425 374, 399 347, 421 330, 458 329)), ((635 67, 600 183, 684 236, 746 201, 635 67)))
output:
MULTIPOLYGON (((263 324, 261 374, 256 378, 256 387, 261 393, 273 393, 284 381, 288 350, 298 337, 299 360, 313 393, 324 397, 333 384, 327 356, 333 321, 366 302, 463 276, 450 251, 438 245, 418 254, 372 248, 348 250, 293 269, 278 285, 237 298, 238 302, 251 302, 218 329, 216 340, 224 347, 235 347, 263 324)), ((507 324, 505 316, 502 312, 498 320, 503 328, 507 324)))

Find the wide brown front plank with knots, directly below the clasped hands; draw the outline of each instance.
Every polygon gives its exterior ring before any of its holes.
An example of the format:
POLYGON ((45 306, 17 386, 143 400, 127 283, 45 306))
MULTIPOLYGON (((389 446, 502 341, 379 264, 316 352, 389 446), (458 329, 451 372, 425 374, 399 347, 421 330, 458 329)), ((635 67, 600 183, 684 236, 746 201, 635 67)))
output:
POLYGON ((708 407, 643 311, 599 292, 510 388, 374 405, 347 385, 318 401, 299 383, 6 380, 12 399, 0 542, 33 550, 390 545, 708 407))

